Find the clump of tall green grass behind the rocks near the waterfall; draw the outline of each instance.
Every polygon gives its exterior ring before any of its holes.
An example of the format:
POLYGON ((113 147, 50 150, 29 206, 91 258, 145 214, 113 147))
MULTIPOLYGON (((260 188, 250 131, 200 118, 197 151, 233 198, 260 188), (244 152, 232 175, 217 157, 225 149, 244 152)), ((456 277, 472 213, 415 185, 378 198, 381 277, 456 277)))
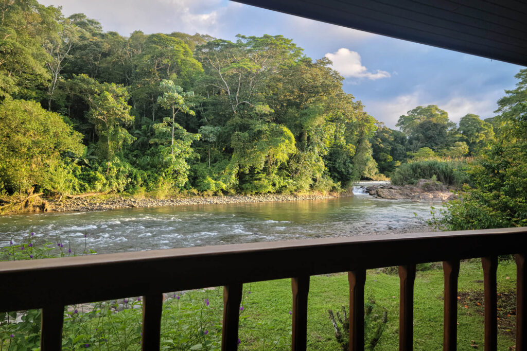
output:
POLYGON ((401 164, 391 175, 392 184, 416 184, 419 179, 435 178, 447 186, 462 188, 471 184, 471 159, 421 160, 401 164))

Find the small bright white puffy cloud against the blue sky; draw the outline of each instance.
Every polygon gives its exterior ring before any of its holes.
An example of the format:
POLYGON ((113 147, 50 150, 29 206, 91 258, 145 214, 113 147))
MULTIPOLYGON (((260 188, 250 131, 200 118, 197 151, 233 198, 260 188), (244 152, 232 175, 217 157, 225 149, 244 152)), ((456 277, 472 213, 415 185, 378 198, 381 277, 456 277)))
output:
POLYGON ((352 77, 376 80, 390 77, 390 74, 386 71, 377 70, 375 73, 368 71, 362 65, 362 62, 360 62, 359 53, 344 47, 339 48, 335 53, 328 52, 325 56, 333 61, 333 69, 345 78, 352 77))

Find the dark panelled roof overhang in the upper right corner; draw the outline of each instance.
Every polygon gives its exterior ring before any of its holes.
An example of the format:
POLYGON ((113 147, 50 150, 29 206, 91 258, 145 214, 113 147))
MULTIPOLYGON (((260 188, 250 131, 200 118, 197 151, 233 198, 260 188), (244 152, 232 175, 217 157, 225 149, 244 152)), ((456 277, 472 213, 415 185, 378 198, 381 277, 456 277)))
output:
POLYGON ((527 4, 518 0, 234 1, 527 66, 527 4))

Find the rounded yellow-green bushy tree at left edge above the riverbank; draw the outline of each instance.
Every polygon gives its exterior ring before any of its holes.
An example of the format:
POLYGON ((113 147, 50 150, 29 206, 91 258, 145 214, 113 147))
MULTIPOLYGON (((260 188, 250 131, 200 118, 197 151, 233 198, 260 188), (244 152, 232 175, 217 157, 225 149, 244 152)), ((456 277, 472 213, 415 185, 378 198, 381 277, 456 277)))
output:
POLYGON ((33 101, 7 98, 0 121, 0 190, 23 191, 34 184, 69 190, 75 165, 62 155, 81 153, 81 134, 33 101))

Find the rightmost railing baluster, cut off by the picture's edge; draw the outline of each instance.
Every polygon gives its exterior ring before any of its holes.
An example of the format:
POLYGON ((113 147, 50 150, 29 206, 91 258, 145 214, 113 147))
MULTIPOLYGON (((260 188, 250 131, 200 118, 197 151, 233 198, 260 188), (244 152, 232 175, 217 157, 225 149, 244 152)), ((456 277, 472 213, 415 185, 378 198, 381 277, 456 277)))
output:
POLYGON ((516 350, 527 350, 527 292, 525 292, 525 255, 516 259, 516 350))

